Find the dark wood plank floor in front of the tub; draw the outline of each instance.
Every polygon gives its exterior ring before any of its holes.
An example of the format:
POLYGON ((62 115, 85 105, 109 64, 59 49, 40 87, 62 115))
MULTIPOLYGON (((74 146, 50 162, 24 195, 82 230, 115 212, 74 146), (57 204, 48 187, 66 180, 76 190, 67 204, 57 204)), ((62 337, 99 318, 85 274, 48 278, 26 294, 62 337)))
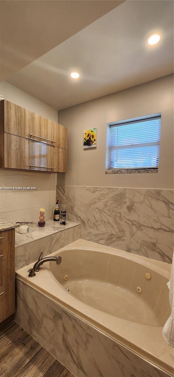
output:
POLYGON ((1 377, 75 377, 17 323, 0 331, 1 377))

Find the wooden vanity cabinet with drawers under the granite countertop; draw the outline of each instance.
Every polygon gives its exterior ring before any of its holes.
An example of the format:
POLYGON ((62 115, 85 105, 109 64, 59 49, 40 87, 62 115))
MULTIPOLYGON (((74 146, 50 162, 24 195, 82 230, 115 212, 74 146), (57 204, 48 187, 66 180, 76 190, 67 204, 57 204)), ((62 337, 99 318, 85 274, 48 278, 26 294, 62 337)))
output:
POLYGON ((15 312, 15 230, 0 232, 0 323, 15 312))

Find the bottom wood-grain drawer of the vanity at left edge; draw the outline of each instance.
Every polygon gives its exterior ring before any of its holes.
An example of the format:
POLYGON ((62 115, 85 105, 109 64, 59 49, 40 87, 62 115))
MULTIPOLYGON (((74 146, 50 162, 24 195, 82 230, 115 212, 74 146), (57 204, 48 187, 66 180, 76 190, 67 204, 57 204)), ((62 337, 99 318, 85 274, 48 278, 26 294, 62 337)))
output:
POLYGON ((0 287, 0 322, 15 312, 15 280, 0 287))

